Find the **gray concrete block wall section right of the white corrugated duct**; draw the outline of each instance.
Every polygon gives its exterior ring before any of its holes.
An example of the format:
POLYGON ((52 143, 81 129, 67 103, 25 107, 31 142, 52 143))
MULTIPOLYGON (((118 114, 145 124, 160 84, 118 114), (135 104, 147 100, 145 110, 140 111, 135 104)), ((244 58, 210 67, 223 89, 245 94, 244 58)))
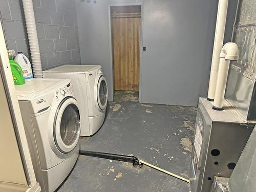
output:
POLYGON ((43 69, 80 64, 75 0, 33 0, 43 69))

